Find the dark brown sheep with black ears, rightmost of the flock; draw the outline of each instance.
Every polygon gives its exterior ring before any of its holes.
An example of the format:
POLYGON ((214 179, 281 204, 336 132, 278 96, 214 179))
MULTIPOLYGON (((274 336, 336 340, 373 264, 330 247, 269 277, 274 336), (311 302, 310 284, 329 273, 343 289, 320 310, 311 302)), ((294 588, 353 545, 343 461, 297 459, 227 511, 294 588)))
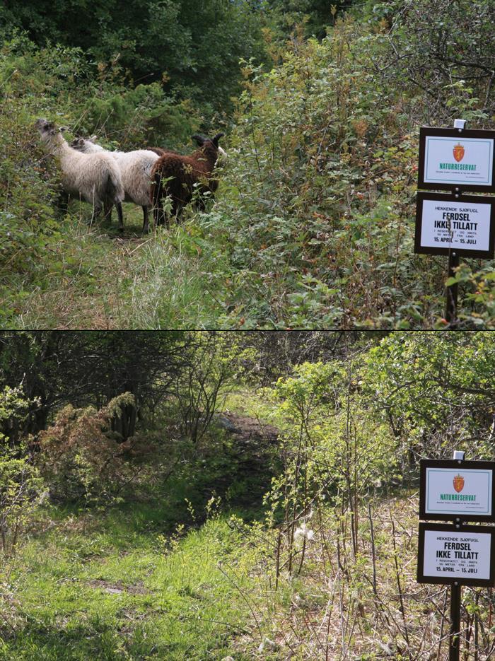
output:
MULTIPOLYGON (((168 226, 163 197, 170 195, 172 215, 178 218, 182 208, 192 200, 195 187, 199 185, 199 193, 213 194, 216 191, 219 182, 213 179, 212 175, 219 158, 226 158, 226 153, 219 147, 219 139, 223 135, 216 134, 213 139, 194 135, 192 139, 197 142, 199 148, 190 156, 168 152, 158 158, 151 170, 150 192, 155 226, 163 223, 168 226)), ((201 199, 199 206, 204 208, 204 201, 201 199)))

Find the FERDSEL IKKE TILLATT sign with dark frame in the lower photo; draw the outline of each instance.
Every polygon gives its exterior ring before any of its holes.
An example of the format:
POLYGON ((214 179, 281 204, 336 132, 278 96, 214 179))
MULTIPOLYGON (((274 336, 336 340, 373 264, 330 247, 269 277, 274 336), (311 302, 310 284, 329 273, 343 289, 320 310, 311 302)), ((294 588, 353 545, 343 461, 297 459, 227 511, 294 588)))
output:
POLYGON ((495 585, 495 528, 420 523, 418 583, 495 585))

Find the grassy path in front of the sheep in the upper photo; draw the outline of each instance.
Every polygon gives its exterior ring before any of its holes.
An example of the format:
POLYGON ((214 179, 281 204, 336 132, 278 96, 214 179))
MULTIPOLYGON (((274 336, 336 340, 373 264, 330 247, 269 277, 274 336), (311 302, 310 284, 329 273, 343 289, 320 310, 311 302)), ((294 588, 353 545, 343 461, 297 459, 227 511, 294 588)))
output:
MULTIPOLYGON (((18 304, 11 327, 56 329, 216 327, 219 255, 201 255, 191 224, 141 233, 140 207, 124 205, 124 231, 88 227, 73 204, 50 273, 18 304)), ((87 215, 87 213, 86 213, 87 215)), ((115 213, 114 213, 115 215, 115 213)), ((24 289, 20 283, 20 289, 24 289)))

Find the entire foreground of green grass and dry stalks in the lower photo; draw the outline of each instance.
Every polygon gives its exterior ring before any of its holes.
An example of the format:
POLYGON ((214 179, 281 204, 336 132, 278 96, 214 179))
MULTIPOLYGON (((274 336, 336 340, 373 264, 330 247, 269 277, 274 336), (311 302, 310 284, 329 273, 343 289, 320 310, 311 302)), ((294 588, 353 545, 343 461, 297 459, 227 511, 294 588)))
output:
MULTIPOLYGON (((282 536, 278 579, 276 530, 260 523, 222 514, 173 533, 163 499, 52 507, 0 568, 0 660, 439 661, 448 588, 416 583, 417 493, 370 506, 354 550, 349 512, 310 515, 315 534, 291 575, 282 536)), ((488 658, 491 591, 462 599, 466 659, 488 658)))

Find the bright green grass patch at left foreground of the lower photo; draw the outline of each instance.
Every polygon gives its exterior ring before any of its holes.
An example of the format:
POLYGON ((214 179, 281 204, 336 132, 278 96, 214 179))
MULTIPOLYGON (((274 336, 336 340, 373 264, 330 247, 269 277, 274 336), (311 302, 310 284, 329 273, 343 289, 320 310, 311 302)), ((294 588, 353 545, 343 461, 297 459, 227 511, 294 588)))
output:
POLYGON ((216 517, 164 537, 156 512, 156 503, 92 517, 52 511, 50 530, 0 572, 0 659, 228 655, 250 632, 248 607, 218 566, 236 562, 235 531, 216 517))

